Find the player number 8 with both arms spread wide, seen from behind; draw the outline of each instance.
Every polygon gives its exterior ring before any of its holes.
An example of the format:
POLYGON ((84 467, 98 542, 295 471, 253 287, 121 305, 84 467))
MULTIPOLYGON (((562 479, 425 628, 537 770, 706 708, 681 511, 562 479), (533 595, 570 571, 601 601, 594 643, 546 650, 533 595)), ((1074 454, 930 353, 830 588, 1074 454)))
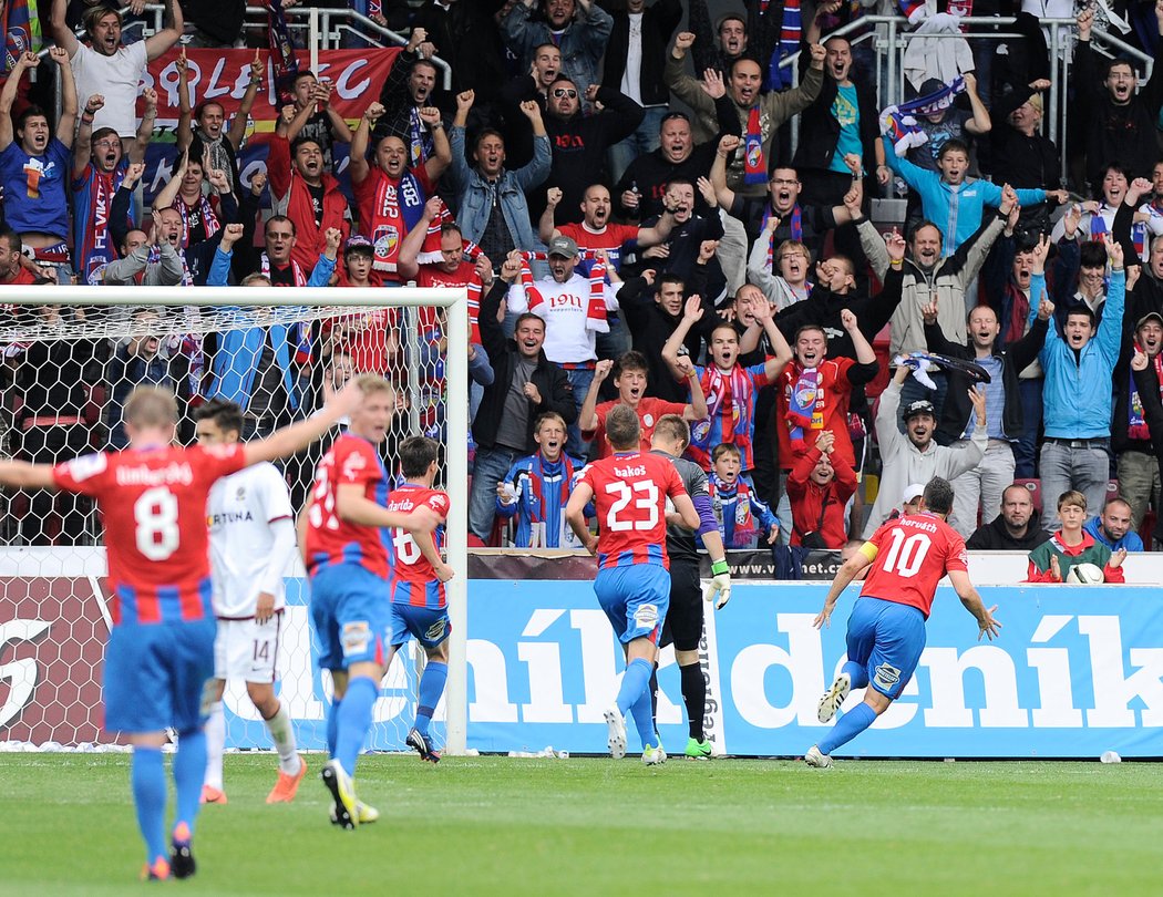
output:
POLYGON ((138 387, 124 406, 124 451, 85 455, 56 467, 0 461, 0 484, 57 489, 97 500, 108 554, 113 631, 105 655, 105 727, 133 745, 137 824, 145 841, 145 878, 194 874, 193 834, 206 775, 207 684, 214 674, 215 619, 206 498, 211 486, 251 464, 301 451, 359 400, 349 386, 311 418, 267 439, 184 449, 174 447, 173 393, 138 387), (165 845, 166 729, 178 733, 173 757, 177 812, 165 845))

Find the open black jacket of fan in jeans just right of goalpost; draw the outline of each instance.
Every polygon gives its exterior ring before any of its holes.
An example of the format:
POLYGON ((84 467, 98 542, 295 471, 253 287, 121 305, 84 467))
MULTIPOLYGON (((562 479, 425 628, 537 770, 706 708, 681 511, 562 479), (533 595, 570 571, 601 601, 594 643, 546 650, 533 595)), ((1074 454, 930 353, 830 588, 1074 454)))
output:
MULTIPOLYGON (((492 289, 480 301, 480 342, 488 353, 488 361, 493 365, 493 383, 485 387, 480 407, 477 408, 477 417, 472 420, 472 437, 481 448, 493 448, 497 444, 497 430, 500 426, 501 415, 505 413, 505 398, 508 396, 509 385, 513 383, 513 369, 516 366, 518 355, 516 343, 505 339, 501 326, 497 322, 497 309, 500 308, 501 299, 508 291, 508 284, 499 277, 493 283, 492 289)), ((566 423, 577 420, 578 408, 573 401, 573 386, 564 370, 558 368, 545 357, 544 353, 537 358, 537 366, 533 371, 529 382, 537 387, 541 393, 541 403, 529 403, 529 415, 526 421, 523 451, 533 453, 537 446, 533 441, 533 425, 538 414, 547 411, 556 411, 566 423)), ((514 447, 516 448, 516 447, 514 447)))

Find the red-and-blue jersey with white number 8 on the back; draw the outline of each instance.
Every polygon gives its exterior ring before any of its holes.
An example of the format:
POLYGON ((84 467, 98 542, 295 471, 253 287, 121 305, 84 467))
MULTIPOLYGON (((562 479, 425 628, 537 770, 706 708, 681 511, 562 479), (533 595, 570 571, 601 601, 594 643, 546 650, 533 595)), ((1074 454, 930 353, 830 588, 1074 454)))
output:
POLYGON ((85 455, 52 469, 57 487, 97 500, 113 624, 213 618, 206 497, 245 465, 242 446, 85 455))

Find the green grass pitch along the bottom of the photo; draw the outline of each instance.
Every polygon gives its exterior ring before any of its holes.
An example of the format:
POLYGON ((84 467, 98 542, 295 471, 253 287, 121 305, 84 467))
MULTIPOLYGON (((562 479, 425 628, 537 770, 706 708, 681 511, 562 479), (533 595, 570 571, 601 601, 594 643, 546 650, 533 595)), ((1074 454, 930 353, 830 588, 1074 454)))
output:
POLYGON ((228 755, 198 875, 140 884, 128 756, 2 755, 0 892, 1163 894, 1155 763, 364 756, 359 795, 383 816, 342 832, 320 762, 266 806, 274 757, 228 755))

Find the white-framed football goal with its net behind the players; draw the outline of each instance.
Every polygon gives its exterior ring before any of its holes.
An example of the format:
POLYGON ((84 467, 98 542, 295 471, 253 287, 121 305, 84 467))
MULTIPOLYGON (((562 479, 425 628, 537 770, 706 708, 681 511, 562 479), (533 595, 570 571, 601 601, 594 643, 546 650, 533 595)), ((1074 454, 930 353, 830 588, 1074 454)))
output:
MULTIPOLYGON (((436 485, 451 498, 445 543, 457 577, 448 584, 449 685, 434 729, 437 743, 447 740, 449 752, 463 752, 469 448, 463 291, 37 286, 6 287, 0 302, 0 451, 37 463, 123 448, 123 403, 140 384, 173 390, 179 440, 190 443, 193 413, 209 398, 237 401, 243 439, 251 439, 309 417, 356 373, 390 379, 398 407, 380 447, 390 476, 398 472, 395 453, 406 436, 427 435, 442 446, 436 485), (286 305, 288 299, 295 305, 286 305)), ((309 497, 328 442, 280 464, 295 511, 309 497)), ((115 733, 101 729, 101 668, 112 626, 102 539, 87 499, 0 492, 0 749, 116 743, 115 733)), ((315 665, 299 558, 286 571, 286 596, 276 661, 280 699, 300 747, 321 749, 331 684, 315 665)), ((393 662, 376 706, 372 749, 406 749, 422 662, 415 642, 393 662)), ((228 683, 223 709, 228 748, 270 747, 244 683, 228 683)))

